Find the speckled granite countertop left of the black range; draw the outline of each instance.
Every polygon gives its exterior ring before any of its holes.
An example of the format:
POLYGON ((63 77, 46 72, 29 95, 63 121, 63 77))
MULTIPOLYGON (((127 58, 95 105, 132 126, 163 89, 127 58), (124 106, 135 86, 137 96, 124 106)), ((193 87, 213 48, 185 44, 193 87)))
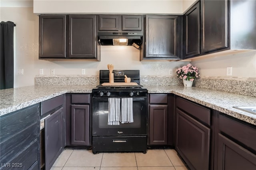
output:
POLYGON ((0 116, 65 93, 92 93, 96 85, 36 85, 0 90, 0 116))

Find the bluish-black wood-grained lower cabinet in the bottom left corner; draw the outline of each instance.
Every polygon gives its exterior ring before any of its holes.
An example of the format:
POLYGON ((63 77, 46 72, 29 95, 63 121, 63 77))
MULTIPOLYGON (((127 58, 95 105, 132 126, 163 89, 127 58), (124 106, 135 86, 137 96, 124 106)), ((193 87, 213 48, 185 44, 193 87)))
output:
POLYGON ((0 116, 0 169, 40 169, 39 103, 0 116))

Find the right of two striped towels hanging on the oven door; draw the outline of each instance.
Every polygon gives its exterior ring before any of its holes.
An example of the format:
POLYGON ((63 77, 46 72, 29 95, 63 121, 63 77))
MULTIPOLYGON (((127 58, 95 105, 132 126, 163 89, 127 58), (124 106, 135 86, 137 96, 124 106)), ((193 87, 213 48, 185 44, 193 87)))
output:
POLYGON ((132 98, 121 99, 121 123, 133 123, 132 98))

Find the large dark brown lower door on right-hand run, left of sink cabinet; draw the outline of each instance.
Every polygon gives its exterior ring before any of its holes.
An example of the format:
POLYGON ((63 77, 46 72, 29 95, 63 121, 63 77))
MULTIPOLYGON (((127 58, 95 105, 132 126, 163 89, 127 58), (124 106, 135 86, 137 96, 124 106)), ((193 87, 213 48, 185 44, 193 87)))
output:
POLYGON ((191 169, 208 170, 210 128, 176 108, 175 148, 191 169))

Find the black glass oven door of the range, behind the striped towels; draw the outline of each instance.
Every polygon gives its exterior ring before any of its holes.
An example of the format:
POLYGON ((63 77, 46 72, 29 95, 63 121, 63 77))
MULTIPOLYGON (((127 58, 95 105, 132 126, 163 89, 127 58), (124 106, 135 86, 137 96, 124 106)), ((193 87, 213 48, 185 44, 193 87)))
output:
POLYGON ((108 97, 92 97, 92 136, 146 135, 147 97, 133 97, 133 121, 108 125, 108 97))

